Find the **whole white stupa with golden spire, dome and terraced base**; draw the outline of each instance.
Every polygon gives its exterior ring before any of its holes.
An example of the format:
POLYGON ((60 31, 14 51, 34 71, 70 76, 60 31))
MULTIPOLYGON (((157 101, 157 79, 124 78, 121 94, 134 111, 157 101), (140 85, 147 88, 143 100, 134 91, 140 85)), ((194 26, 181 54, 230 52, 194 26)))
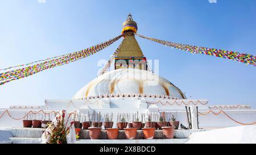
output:
MULTIPOLYGON (((208 100, 187 99, 173 83, 151 72, 135 39, 137 30, 138 25, 129 14, 123 23, 123 41, 114 57, 114 70, 87 83, 70 100, 46 99, 44 106, 1 109, 0 114, 8 111, 9 115, 1 116, 0 127, 22 127, 22 119, 14 118, 24 118, 29 111, 47 113, 59 110, 76 111, 81 115, 112 113, 114 125, 119 114, 137 112, 158 115, 164 112, 170 116, 167 121, 174 116, 184 127, 194 129, 233 127, 255 120, 256 111, 249 105, 208 106, 208 100)), ((40 119, 40 115, 33 117, 40 119)))

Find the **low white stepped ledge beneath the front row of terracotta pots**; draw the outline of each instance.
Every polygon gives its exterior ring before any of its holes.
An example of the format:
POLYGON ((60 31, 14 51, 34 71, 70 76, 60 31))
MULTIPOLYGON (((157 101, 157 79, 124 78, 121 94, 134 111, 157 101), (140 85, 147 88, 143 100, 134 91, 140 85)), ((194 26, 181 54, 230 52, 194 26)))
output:
MULTIPOLYGON (((163 131, 156 130, 155 131, 155 139, 153 140, 145 140, 143 139, 143 131, 137 131, 137 139, 135 140, 127 140, 125 136, 125 131, 119 131, 117 140, 108 140, 106 135, 106 131, 101 131, 100 139, 98 140, 90 140, 89 130, 81 129, 80 131, 80 140, 77 140, 77 144, 111 144, 111 143, 122 143, 122 144, 161 144, 161 143, 185 143, 188 140, 188 136, 193 132, 206 131, 208 129, 177 129, 174 132, 174 139, 163 139, 163 131)), ((24 143, 41 143, 42 133, 45 131, 43 128, 0 128, 0 131, 5 131, 9 133, 9 141, 5 140, 4 143, 14 143, 14 144, 24 144, 24 143)), ((0 132, 1 133, 1 132, 0 132)), ((1 136, 1 135, 0 135, 1 136)), ((8 138, 7 138, 8 139, 8 138)), ((0 140, 1 143, 1 140, 0 140)))

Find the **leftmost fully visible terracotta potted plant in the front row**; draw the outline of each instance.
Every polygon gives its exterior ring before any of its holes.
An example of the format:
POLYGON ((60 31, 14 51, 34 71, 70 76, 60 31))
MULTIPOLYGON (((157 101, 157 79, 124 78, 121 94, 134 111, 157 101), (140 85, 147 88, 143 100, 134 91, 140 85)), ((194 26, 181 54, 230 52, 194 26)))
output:
POLYGON ((97 115, 97 120, 96 120, 96 112, 93 111, 93 123, 92 123, 92 127, 89 127, 89 135, 90 135, 90 139, 100 139, 100 135, 101 135, 101 114, 99 112, 99 114, 97 115))

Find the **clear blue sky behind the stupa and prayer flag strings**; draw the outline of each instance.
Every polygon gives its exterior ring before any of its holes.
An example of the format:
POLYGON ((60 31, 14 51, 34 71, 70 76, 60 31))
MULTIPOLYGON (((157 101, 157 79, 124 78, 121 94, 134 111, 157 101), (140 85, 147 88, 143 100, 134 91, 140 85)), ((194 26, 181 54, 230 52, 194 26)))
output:
MULTIPOLYGON (((131 13, 148 37, 256 55, 256 1, 0 1, 0 68, 79 51, 121 33, 131 13)), ((190 99, 256 107, 256 68, 224 58, 191 55, 137 37, 159 75, 190 99)), ((96 55, 0 86, 0 107, 71 99, 97 76, 121 40, 96 55)))

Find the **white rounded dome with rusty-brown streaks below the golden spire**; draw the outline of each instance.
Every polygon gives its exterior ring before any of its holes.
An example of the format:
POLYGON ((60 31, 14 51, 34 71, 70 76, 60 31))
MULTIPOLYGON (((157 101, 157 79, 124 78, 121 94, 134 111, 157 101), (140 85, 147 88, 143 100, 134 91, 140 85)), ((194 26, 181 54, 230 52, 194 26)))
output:
POLYGON ((85 99, 106 94, 167 95, 186 99, 183 92, 171 82, 141 69, 117 69, 102 74, 82 87, 73 99, 85 99))

